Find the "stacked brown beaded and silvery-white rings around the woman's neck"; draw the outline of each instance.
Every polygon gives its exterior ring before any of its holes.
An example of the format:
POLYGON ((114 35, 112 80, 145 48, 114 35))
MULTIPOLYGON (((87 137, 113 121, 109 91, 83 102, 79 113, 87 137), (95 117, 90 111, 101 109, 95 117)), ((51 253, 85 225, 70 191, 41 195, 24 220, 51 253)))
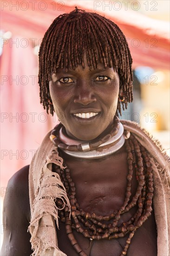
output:
POLYGON ((101 158, 104 155, 113 154, 124 145, 124 127, 116 116, 111 124, 111 132, 109 134, 89 142, 74 140, 68 137, 66 132, 64 134, 63 129, 64 127, 60 123, 52 130, 50 140, 56 147, 75 157, 85 159, 101 158), (102 154, 97 154, 98 151, 102 152, 102 154))

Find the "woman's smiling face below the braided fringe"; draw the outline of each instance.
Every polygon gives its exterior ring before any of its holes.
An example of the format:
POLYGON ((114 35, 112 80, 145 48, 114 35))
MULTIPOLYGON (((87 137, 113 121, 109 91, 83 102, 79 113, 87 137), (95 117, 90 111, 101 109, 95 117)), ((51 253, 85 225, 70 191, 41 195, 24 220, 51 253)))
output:
POLYGON ((90 70, 85 68, 58 69, 49 83, 54 110, 65 126, 67 135, 83 141, 107 134, 116 113, 119 77, 102 63, 90 70))

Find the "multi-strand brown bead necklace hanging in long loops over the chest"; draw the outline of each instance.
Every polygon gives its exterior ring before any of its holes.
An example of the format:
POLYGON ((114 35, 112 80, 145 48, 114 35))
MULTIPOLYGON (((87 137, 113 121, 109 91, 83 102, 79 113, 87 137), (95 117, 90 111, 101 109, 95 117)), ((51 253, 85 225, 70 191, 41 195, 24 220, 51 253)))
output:
POLYGON ((86 256, 86 254, 78 245, 78 242, 72 233, 72 229, 75 229, 85 237, 88 237, 90 241, 93 239, 100 240, 119 238, 129 234, 124 249, 120 255, 124 256, 127 253, 131 243, 131 238, 134 236, 135 231, 151 215, 153 178, 148 152, 138 143, 133 135, 125 141, 125 148, 127 152, 128 175, 124 204, 119 210, 114 211, 108 216, 98 216, 95 213, 87 213, 81 209, 76 200, 76 189, 70 176, 70 169, 66 168, 65 170, 62 170, 59 167, 56 168, 70 200, 71 219, 69 208, 65 207, 63 209, 63 202, 60 199, 56 200, 56 204, 61 208, 59 214, 61 221, 65 222, 66 234, 72 243, 72 246, 80 256, 86 256), (136 194, 130 201, 133 170, 135 170, 138 185, 136 194), (131 219, 118 226, 118 220, 121 218, 121 215, 136 205, 137 211, 131 219), (110 220, 112 220, 112 222, 107 224, 110 220))

